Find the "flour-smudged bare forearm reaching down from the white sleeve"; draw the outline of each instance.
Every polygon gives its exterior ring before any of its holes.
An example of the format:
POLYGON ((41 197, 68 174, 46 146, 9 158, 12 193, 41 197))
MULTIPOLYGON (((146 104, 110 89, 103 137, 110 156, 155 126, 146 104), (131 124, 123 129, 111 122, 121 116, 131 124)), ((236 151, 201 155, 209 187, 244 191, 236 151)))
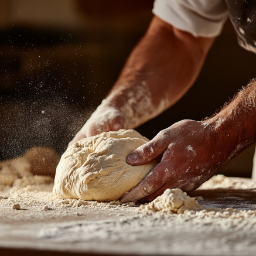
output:
POLYGON ((153 18, 104 104, 124 114, 126 128, 155 117, 189 90, 213 41, 153 18))

